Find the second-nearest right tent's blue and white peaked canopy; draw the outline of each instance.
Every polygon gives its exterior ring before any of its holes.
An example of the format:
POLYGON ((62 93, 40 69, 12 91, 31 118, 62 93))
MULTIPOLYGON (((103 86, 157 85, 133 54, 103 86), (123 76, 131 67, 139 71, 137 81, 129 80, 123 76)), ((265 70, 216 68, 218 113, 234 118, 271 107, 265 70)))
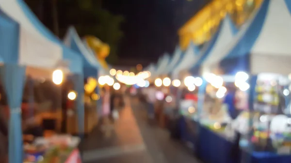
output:
POLYGON ((200 59, 198 59, 195 65, 190 69, 191 74, 199 75, 200 68, 204 68, 202 72, 207 72, 207 68, 210 66, 209 64, 213 60, 219 58, 219 54, 224 51, 228 44, 230 44, 237 32, 238 30, 231 18, 226 15, 225 19, 221 21, 215 35, 210 40, 206 50, 201 52, 200 59))

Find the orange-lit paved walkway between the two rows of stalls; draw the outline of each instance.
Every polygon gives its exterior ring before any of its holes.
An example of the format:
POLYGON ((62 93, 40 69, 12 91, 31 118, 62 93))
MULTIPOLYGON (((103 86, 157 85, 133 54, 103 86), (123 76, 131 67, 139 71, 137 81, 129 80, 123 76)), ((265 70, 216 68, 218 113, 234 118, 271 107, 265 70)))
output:
POLYGON ((110 135, 97 126, 82 142, 84 163, 199 163, 167 131, 147 123, 145 107, 126 98, 110 135))

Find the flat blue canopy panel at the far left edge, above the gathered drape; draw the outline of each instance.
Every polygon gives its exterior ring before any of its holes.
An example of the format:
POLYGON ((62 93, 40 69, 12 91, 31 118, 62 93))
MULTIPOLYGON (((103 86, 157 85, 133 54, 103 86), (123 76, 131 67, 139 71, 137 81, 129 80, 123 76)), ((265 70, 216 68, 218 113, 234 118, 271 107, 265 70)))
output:
POLYGON ((17 63, 19 25, 0 10, 0 61, 17 63))

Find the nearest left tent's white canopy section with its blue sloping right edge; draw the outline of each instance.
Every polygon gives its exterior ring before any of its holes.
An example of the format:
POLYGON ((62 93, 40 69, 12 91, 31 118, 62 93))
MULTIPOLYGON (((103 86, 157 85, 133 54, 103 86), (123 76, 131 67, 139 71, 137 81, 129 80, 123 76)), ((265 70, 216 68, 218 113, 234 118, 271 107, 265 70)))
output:
MULTIPOLYGON (((67 59, 70 72, 81 73, 81 62, 74 59, 76 54, 45 28, 23 0, 1 0, 0 9, 19 24, 19 36, 14 37, 19 40, 19 54, 14 55, 17 63, 50 69, 67 59)), ((8 36, 3 33, 3 37, 8 36)))

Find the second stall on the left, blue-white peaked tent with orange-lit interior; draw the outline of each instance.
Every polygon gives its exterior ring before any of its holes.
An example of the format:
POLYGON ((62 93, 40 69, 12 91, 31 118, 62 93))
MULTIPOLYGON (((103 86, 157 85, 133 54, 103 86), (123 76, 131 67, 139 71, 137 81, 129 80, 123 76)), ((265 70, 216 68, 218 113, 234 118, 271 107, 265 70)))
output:
MULTIPOLYGON (((92 129, 98 122, 98 108, 100 109, 100 91, 99 86, 97 85, 98 80, 98 70, 103 69, 98 63, 97 59, 92 55, 86 45, 81 41, 76 29, 70 27, 66 33, 65 44, 70 47, 72 50, 78 52, 82 58, 83 62, 83 74, 86 80, 85 84, 85 133, 90 133, 92 129), (96 97, 95 97, 96 96, 96 97), (92 99, 92 97, 94 99, 92 99), (99 98, 98 98, 99 97, 99 98)), ((77 133, 74 125, 77 122, 76 114, 71 115, 67 119, 67 132, 68 133, 77 133)))

